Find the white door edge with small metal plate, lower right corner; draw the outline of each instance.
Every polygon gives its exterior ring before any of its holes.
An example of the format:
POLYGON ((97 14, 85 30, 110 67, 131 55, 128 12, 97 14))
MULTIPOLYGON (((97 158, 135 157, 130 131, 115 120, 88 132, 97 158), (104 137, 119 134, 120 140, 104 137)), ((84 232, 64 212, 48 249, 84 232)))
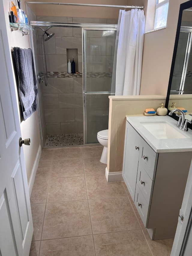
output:
POLYGON ((192 162, 171 251, 171 256, 190 255, 192 255, 192 162))

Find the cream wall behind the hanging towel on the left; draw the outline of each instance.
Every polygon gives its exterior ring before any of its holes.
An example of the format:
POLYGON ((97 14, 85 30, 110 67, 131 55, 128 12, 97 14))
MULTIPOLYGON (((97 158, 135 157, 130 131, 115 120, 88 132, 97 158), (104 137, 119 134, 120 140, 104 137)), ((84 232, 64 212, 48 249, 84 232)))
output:
MULTIPOLYGON (((21 1, 21 8, 24 9, 24 4, 22 1, 21 1)), ((29 48, 28 36, 22 36, 21 31, 13 31, 13 32, 10 31, 10 25, 8 20, 9 19, 8 17, 9 1, 8 0, 4 0, 4 12, 7 13, 7 16, 5 17, 7 18, 6 24, 7 24, 9 48, 11 47, 29 48)), ((14 74, 13 70, 12 72, 14 74)), ((15 89, 16 89, 16 83, 15 83, 15 89)), ((17 89, 16 89, 16 94, 17 94, 17 89)), ((21 122, 21 134, 22 134, 22 139, 25 139, 25 138, 31 139, 30 146, 23 146, 25 163, 26 163, 26 171, 27 171, 27 179, 29 182, 33 164, 38 152, 38 148, 40 146, 37 112, 33 113, 32 116, 29 117, 26 121, 21 122)))

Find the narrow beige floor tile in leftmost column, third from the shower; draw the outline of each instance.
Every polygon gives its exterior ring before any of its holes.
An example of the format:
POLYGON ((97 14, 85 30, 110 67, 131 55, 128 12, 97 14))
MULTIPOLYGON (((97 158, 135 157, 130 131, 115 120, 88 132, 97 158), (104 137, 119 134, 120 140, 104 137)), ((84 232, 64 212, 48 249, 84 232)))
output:
POLYGON ((31 203, 45 203, 48 189, 48 180, 36 179, 33 185, 30 201, 31 203))

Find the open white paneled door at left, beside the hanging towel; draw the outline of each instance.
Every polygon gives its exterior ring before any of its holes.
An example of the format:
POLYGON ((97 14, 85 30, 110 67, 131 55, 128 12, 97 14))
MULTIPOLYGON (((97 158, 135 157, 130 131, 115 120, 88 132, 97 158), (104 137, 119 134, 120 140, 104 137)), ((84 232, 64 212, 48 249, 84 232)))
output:
POLYGON ((10 49, 1 26, 0 59, 0 255, 28 256, 33 233, 29 188, 10 49))

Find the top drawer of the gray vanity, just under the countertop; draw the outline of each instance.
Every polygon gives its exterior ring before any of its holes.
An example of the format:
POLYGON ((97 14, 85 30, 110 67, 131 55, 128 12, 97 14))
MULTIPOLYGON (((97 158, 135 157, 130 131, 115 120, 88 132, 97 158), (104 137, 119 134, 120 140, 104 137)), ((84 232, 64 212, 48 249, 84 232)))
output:
POLYGON ((145 142, 145 140, 142 140, 142 145, 143 151, 139 161, 149 177, 152 180, 155 180, 158 153, 155 153, 155 151, 145 142))

